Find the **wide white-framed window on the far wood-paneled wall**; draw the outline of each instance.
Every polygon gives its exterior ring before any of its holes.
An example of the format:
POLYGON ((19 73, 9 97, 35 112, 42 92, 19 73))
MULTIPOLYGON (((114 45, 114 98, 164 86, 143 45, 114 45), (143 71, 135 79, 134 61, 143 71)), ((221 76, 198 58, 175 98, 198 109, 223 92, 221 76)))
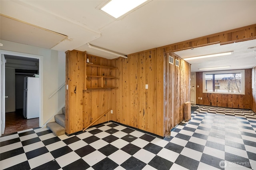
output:
POLYGON ((244 95, 244 70, 203 72, 203 93, 244 95))

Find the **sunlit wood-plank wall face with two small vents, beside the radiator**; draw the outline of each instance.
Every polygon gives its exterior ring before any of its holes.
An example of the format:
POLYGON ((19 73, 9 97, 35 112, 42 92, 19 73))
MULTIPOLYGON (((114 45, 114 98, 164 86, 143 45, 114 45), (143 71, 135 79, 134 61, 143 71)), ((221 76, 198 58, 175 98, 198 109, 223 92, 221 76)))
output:
MULTIPOLYGON (((164 50, 164 49, 162 49, 164 50)), ((190 101, 190 64, 174 53, 164 55, 164 136, 184 120, 184 103, 190 101), (174 64, 169 63, 169 55, 174 64), (175 60, 180 66, 175 65, 175 60)))

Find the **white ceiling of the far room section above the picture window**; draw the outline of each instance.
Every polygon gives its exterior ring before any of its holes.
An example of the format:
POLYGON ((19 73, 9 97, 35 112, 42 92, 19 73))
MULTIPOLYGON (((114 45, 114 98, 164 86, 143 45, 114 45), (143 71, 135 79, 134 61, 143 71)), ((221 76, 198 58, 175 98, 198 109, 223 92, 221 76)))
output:
MULTIPOLYGON (((226 69, 250 69, 256 65, 256 40, 230 43, 226 45, 214 44, 194 49, 186 49, 175 52, 181 58, 201 56, 234 51, 231 55, 188 60, 191 64, 191 72, 200 71, 199 68, 230 66, 226 69), (251 48, 254 47, 254 48, 251 48), (248 49, 249 48, 249 49, 248 49)), ((206 69, 201 71, 217 71, 219 69, 206 69)))

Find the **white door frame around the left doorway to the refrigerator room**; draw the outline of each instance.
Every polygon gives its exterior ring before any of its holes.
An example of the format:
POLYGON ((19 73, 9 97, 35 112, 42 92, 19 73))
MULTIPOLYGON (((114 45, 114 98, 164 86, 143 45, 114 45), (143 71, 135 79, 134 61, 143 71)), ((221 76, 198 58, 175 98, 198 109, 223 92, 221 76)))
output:
MULTIPOLYGON (((34 54, 28 54, 28 53, 20 53, 20 52, 14 52, 14 51, 6 51, 6 50, 0 50, 0 56, 3 55, 14 55, 14 56, 19 56, 19 57, 27 57, 27 58, 35 58, 35 59, 39 59, 39 91, 40 91, 40 98, 39 98, 39 127, 42 127, 43 123, 43 101, 44 101, 44 93, 43 93, 43 56, 42 55, 34 55, 34 54)), ((0 75, 2 78, 2 75, 0 75)), ((2 86, 2 82, 1 82, 1 86, 2 86)), ((0 99, 2 102, 2 96, 0 99)), ((1 116, 0 116, 0 136, 2 135, 2 115, 4 114, 5 117, 5 113, 2 113, 2 109, 1 109, 1 116)))

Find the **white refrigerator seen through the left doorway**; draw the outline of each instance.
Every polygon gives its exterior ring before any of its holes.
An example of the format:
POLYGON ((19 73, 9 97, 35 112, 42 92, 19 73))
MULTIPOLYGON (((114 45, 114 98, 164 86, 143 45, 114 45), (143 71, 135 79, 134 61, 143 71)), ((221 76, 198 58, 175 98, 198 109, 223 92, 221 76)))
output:
POLYGON ((39 117, 39 78, 24 77, 23 116, 25 119, 39 117))

